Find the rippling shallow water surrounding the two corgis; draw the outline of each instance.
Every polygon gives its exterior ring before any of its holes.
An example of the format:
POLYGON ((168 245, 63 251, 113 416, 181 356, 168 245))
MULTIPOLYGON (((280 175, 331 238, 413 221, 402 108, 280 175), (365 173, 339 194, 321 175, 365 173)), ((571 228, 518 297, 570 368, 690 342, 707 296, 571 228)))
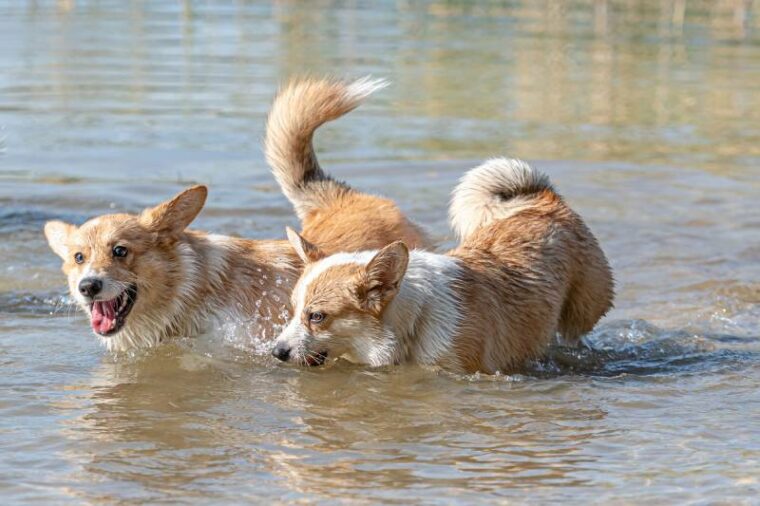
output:
POLYGON ((2 2, 3 502, 756 502, 760 7, 680 4, 2 2), (283 237, 259 141, 307 71, 393 81, 319 153, 444 245, 466 168, 548 172, 616 273, 590 349, 513 377, 298 370, 223 333, 107 355, 43 223, 198 181, 198 228, 283 237))

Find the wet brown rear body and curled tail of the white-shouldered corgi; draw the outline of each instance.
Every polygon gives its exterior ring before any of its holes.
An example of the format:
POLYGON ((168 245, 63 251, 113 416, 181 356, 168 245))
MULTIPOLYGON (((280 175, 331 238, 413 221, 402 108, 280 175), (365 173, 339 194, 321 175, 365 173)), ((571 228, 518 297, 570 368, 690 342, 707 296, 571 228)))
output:
POLYGON ((460 346, 472 350, 460 356, 482 361, 467 369, 537 356, 556 332, 576 341, 612 307, 612 273, 599 244, 549 179, 526 163, 494 159, 469 171, 450 216, 461 238, 451 254, 469 278, 463 300, 479 315, 463 322, 470 328, 462 334, 472 339, 460 346))

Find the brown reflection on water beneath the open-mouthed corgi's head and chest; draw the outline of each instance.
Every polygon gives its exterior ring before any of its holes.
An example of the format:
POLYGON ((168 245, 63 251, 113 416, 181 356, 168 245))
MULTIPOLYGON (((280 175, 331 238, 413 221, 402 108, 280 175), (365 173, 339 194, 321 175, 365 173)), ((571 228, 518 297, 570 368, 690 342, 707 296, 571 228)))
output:
POLYGON ((71 479, 96 492, 83 498, 118 500, 121 484, 150 500, 234 475, 235 460, 245 458, 236 442, 248 436, 219 408, 236 396, 239 368, 170 345, 104 361, 87 383, 67 387, 68 405, 57 407, 81 413, 64 422, 67 458, 79 469, 71 479), (117 486, 97 495, 103 480, 117 486))

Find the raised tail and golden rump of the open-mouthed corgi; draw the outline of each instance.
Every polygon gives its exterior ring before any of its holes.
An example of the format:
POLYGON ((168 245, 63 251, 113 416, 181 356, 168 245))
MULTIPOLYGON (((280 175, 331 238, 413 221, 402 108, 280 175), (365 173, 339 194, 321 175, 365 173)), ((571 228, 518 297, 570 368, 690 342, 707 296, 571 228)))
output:
POLYGON ((320 125, 353 110, 385 85, 368 78, 352 83, 301 79, 280 91, 272 106, 266 158, 312 242, 341 245, 343 251, 377 248, 399 238, 413 247, 428 245, 393 201, 357 192, 326 175, 312 146, 320 125))

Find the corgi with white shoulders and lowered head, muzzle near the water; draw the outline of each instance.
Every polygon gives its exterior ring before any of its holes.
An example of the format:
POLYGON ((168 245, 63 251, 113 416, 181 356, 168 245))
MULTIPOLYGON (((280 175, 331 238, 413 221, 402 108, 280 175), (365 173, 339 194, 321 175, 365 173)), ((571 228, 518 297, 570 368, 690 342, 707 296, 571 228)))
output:
POLYGON ((343 357, 508 373, 557 333, 577 341, 612 307, 596 239, 525 162, 493 159, 466 173, 450 219, 460 245, 446 254, 399 241, 328 255, 288 230, 305 268, 272 354, 299 365, 343 357))

